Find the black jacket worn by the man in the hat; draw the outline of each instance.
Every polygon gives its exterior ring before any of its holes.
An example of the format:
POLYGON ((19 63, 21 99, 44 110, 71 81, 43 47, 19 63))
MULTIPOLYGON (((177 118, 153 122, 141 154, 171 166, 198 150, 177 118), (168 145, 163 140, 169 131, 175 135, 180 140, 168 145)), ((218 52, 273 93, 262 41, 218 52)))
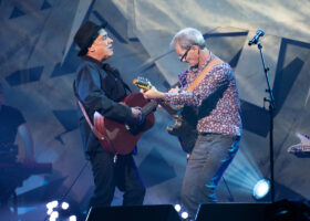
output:
MULTIPOLYGON (((126 123, 132 117, 131 108, 118 104, 130 92, 118 71, 111 69, 110 65, 103 66, 101 62, 90 56, 82 57, 73 87, 75 97, 83 104, 92 122, 95 112, 120 123, 126 123)), ((89 154, 96 151, 101 148, 100 143, 80 107, 79 117, 84 150, 89 154)))

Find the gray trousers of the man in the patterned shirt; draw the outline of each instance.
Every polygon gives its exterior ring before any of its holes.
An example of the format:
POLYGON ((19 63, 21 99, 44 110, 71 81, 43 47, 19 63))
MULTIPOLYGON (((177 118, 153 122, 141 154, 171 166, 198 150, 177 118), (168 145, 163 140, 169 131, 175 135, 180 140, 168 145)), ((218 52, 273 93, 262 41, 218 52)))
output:
POLYGON ((216 202, 215 189, 234 159, 240 137, 199 135, 188 159, 182 187, 182 201, 193 219, 198 206, 216 202))

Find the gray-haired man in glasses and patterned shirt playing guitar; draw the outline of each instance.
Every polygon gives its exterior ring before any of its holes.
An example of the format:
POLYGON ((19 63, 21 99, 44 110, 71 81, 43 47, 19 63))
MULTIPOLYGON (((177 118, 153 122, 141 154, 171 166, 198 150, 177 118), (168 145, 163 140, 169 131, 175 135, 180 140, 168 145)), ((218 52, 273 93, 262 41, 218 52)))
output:
POLYGON ((144 96, 197 108, 198 138, 182 187, 183 203, 193 219, 200 203, 216 202, 215 189, 238 150, 242 127, 239 97, 231 67, 206 48, 198 30, 180 30, 170 45, 189 64, 179 75, 182 87, 168 93, 152 87, 144 96))

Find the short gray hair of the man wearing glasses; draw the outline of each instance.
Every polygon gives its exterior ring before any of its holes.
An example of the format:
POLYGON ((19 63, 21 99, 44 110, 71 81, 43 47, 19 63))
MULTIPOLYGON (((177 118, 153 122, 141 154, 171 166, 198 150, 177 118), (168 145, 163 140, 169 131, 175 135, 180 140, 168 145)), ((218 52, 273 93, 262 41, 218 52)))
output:
POLYGON ((186 28, 177 32, 170 42, 170 46, 174 48, 176 44, 182 49, 189 49, 193 45, 198 45, 200 49, 206 48, 202 32, 193 28, 186 28))

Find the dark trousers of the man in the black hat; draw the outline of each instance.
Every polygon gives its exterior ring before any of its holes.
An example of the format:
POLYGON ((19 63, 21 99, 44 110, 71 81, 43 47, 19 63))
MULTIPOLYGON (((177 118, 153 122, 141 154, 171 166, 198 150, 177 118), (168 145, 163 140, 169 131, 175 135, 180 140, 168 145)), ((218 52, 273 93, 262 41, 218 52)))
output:
POLYGON ((143 203, 145 187, 138 176, 136 165, 132 155, 117 156, 100 149, 90 157, 94 177, 94 194, 91 199, 91 207, 111 206, 115 187, 123 194, 123 206, 140 206, 143 203))

